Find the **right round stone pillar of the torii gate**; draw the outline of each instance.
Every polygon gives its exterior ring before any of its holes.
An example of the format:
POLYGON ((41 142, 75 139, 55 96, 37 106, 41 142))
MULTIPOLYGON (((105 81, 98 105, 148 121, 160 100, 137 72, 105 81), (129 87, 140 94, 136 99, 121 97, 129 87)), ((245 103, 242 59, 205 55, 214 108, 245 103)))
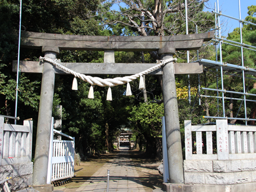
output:
MULTIPOLYGON (((159 49, 161 59, 173 58, 175 48, 159 49)), ((180 138, 180 123, 175 85, 175 67, 173 62, 163 66, 163 105, 165 109, 165 131, 167 142, 169 182, 184 183, 182 140, 180 138)))

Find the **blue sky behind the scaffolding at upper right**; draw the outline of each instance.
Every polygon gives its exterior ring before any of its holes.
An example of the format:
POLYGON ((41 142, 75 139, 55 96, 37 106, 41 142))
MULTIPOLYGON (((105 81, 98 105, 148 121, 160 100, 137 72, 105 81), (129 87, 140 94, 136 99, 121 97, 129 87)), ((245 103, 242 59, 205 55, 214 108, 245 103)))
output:
MULTIPOLYGON (((214 8, 214 3, 217 0, 209 0, 209 6, 211 8, 214 8)), ((245 19, 246 16, 248 16, 248 6, 256 5, 255 0, 240 0, 241 3, 241 19, 245 19)), ((239 19, 239 0, 219 0, 219 9, 222 11, 223 14, 229 15, 232 17, 236 17, 239 19)), ((206 10, 206 9, 205 9, 206 10)), ((211 11, 211 10, 209 10, 211 11)), ((226 24, 223 26, 223 29, 226 28, 225 33, 223 35, 226 35, 227 33, 231 33, 236 27, 239 27, 239 22, 237 20, 229 19, 227 17, 221 16, 221 20, 225 19, 226 24)))

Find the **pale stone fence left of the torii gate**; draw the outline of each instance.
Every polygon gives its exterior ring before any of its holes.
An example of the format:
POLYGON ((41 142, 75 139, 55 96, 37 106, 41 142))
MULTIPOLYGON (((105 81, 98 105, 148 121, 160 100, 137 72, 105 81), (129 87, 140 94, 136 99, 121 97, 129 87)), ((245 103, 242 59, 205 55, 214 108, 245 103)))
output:
POLYGON ((31 162, 33 121, 23 125, 4 123, 0 116, 0 166, 31 162))

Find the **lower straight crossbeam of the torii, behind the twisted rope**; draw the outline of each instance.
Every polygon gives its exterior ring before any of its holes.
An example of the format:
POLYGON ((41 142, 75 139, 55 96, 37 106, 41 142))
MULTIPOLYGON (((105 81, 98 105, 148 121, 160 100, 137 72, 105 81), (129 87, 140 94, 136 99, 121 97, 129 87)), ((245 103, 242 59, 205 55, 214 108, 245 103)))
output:
MULTIPOLYGON (((156 63, 62 63, 74 72, 81 74, 116 74, 131 75, 143 72, 157 65, 156 63)), ((175 74, 199 74, 202 73, 200 63, 174 63, 175 74)), ((20 61, 20 72, 42 73, 43 63, 37 61, 20 61)), ((17 72, 17 61, 13 61, 12 71, 17 72)), ((55 68, 56 74, 70 74, 61 69, 55 68)), ((150 75, 162 74, 162 69, 155 70, 150 75)))

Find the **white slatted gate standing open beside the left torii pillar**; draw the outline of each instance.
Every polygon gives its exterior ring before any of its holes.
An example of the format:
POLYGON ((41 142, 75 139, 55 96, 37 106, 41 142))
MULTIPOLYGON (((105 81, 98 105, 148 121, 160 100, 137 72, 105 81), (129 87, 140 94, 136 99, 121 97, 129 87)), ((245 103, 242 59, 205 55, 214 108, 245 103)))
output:
POLYGON ((54 129, 52 118, 51 143, 49 147, 47 184, 74 176, 74 137, 54 129), (72 140, 54 140, 54 132, 72 140))

